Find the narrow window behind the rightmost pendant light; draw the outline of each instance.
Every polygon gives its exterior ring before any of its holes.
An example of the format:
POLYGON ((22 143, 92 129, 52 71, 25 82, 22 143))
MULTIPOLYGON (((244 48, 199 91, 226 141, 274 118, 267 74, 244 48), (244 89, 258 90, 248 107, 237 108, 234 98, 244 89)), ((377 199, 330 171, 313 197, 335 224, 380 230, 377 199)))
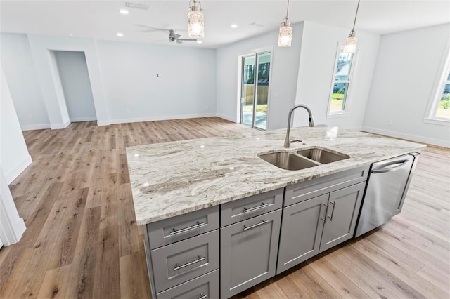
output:
POLYGON ((352 72, 356 53, 343 53, 344 47, 338 47, 333 83, 328 101, 328 117, 344 114, 349 98, 349 86, 352 82, 352 72))

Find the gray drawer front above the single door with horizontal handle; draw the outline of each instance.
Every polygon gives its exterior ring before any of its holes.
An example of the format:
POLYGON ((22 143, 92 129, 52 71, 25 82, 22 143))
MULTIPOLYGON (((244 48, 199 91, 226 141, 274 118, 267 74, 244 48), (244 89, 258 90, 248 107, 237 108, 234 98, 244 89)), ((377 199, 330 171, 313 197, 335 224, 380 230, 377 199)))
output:
POLYGON ((222 204, 220 207, 220 226, 231 225, 281 208, 283 206, 283 192, 282 188, 222 204))

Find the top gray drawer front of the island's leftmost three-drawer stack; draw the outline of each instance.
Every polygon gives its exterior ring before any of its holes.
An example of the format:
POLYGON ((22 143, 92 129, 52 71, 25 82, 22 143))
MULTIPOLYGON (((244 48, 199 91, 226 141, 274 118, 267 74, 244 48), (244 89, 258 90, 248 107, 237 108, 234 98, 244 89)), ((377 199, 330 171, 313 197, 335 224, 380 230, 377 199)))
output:
POLYGON ((219 206, 147 225, 150 249, 169 245, 219 228, 219 206))

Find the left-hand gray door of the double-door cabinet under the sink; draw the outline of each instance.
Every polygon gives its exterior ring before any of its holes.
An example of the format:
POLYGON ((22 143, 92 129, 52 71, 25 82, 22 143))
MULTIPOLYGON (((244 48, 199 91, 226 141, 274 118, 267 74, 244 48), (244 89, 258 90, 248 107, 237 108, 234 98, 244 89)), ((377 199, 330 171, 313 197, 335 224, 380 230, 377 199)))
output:
POLYGON ((284 208, 276 274, 319 253, 328 197, 325 194, 284 208))

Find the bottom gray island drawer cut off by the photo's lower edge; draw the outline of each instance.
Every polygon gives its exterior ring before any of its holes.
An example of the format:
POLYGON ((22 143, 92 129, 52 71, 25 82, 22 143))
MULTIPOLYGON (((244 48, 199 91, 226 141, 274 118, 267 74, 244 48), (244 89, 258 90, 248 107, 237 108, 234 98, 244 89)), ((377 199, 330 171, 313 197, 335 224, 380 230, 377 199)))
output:
POLYGON ((217 299, 219 269, 158 293, 157 299, 217 299))

